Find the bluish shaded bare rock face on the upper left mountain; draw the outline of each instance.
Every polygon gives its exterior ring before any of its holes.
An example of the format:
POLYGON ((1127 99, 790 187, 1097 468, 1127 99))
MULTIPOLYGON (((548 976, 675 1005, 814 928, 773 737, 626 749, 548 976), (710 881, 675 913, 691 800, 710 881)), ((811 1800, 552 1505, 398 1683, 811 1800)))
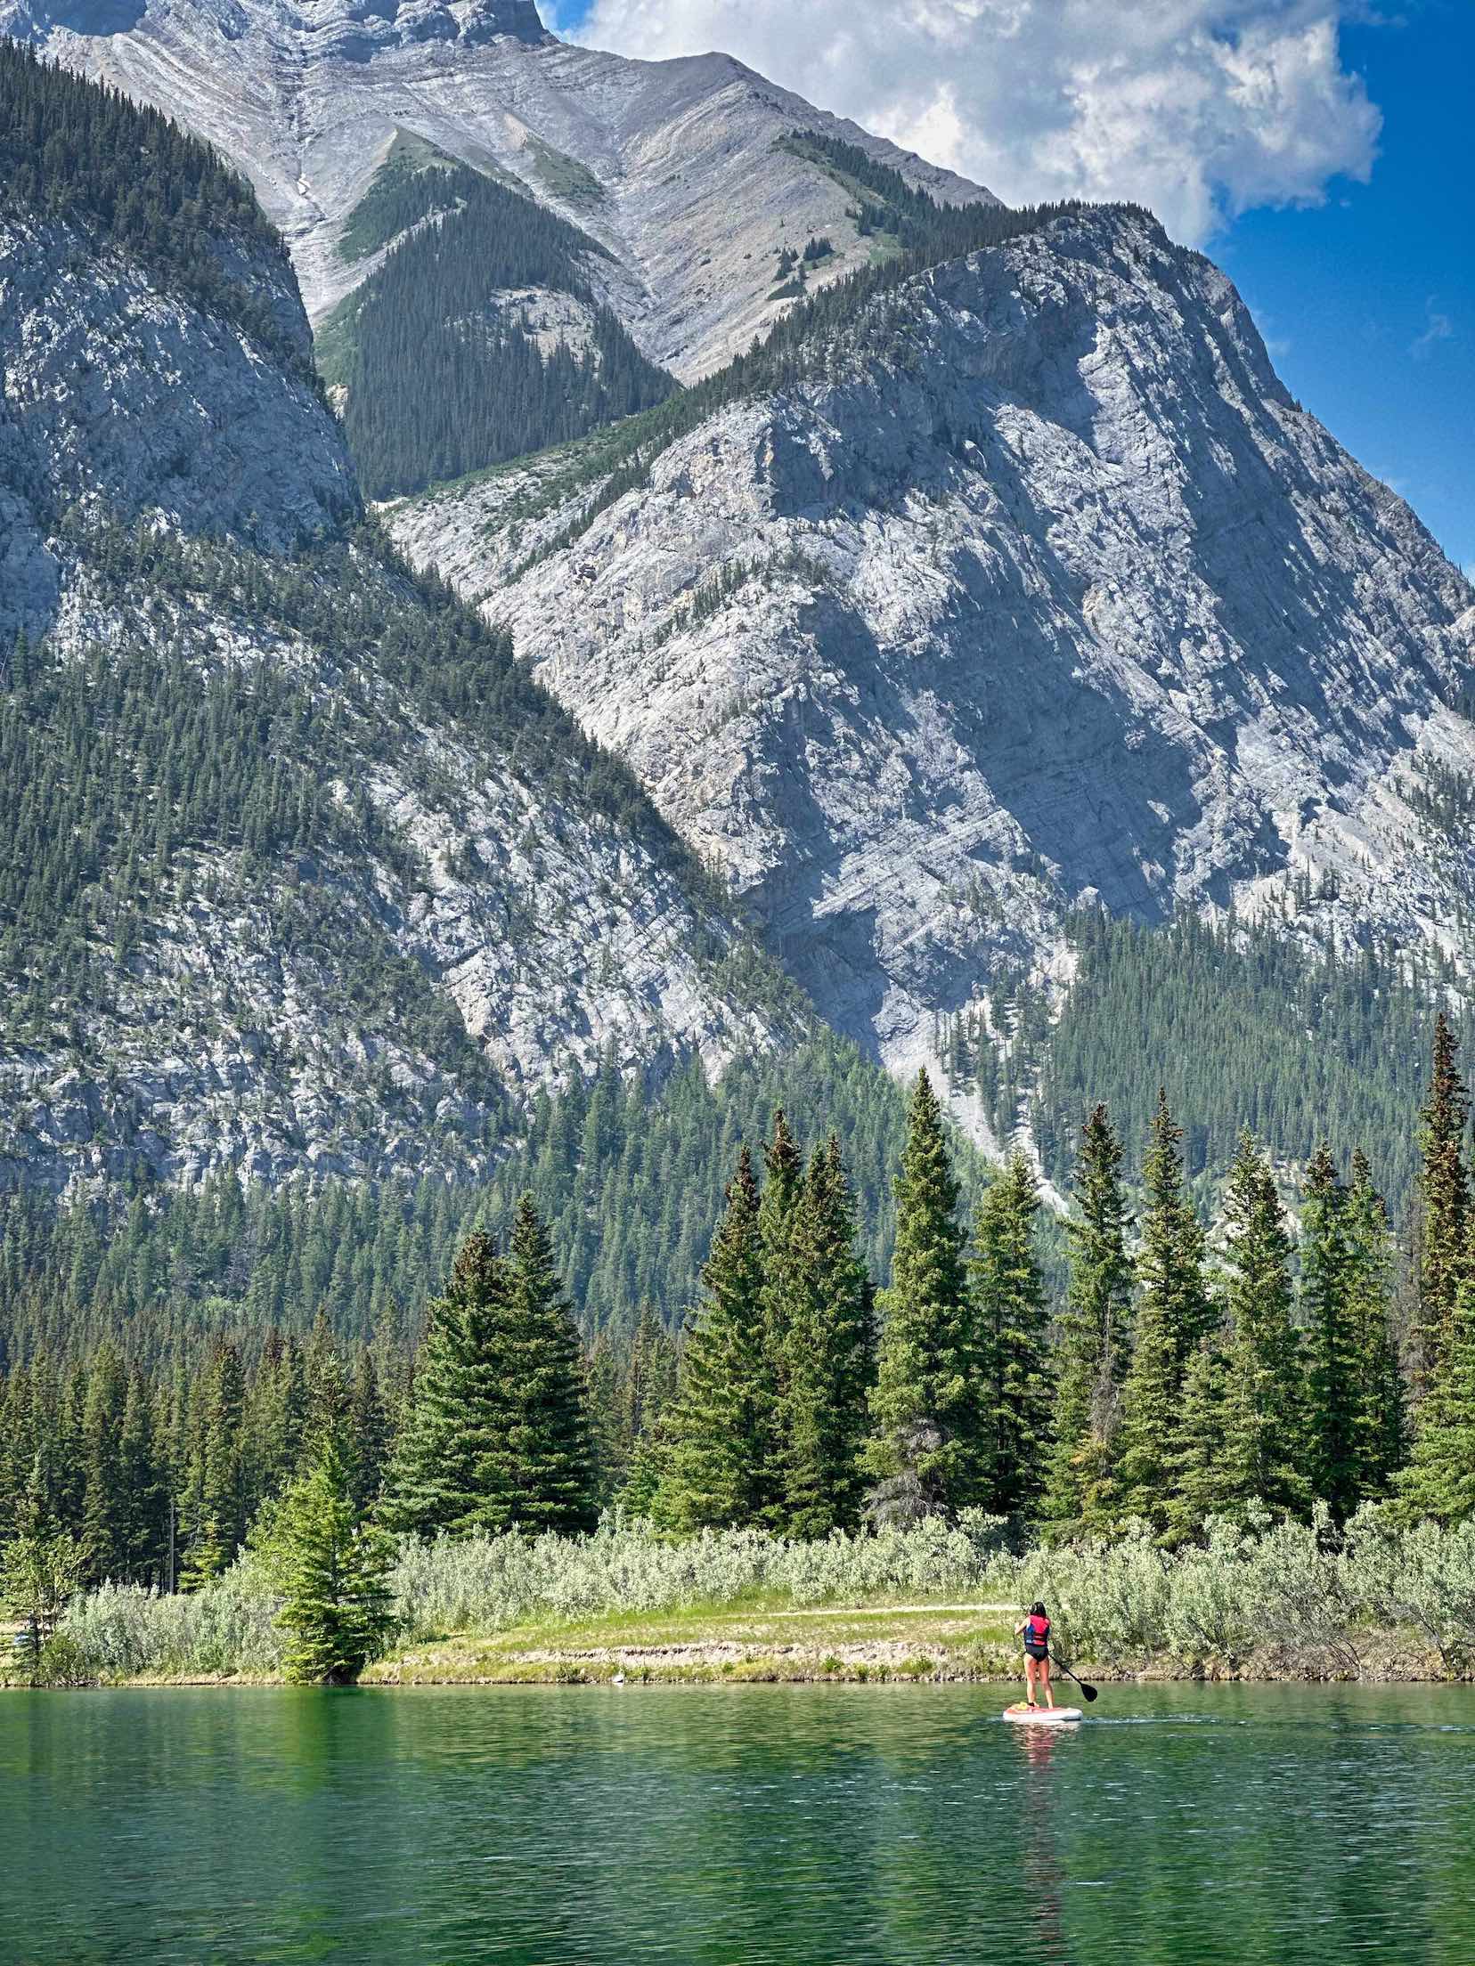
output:
POLYGON ((144 515, 281 550, 360 511, 338 427, 309 379, 291 269, 232 273, 269 299, 281 354, 206 315, 85 230, 0 218, 0 631, 43 627, 59 598, 57 515, 144 515))

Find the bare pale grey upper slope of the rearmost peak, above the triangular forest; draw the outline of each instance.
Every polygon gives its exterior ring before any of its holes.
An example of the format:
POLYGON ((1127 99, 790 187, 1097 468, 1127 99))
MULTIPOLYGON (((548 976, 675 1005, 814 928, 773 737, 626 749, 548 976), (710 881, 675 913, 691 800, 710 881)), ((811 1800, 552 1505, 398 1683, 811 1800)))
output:
POLYGON ((376 260, 340 252, 403 138, 562 212, 608 254, 600 299, 680 379, 781 311, 785 248, 863 263, 854 197, 781 147, 824 128, 940 197, 987 197, 726 55, 641 63, 543 33, 533 0, 0 0, 28 39, 214 142, 281 226, 313 320, 376 260))

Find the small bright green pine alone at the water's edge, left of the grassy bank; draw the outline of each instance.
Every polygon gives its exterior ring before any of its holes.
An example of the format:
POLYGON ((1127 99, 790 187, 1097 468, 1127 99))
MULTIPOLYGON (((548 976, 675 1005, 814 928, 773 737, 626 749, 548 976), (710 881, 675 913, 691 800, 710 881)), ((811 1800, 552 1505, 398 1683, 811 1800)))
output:
POLYGON ((350 1685, 391 1630, 393 1543, 354 1504, 352 1455, 338 1429, 319 1435, 313 1461, 273 1512, 267 1561, 283 1594, 293 1685, 350 1685))

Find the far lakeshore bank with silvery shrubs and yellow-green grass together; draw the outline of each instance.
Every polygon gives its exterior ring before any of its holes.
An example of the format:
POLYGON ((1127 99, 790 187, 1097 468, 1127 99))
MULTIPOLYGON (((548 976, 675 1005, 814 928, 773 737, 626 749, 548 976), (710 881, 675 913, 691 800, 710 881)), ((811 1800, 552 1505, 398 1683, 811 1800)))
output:
MULTIPOLYGON (((1345 1532, 1217 1522, 1019 1551, 966 1516, 883 1535, 751 1530, 401 1545, 376 1685, 1015 1679, 1021 1606, 1103 1679, 1461 1679, 1475 1673, 1475 1524, 1359 1512, 1345 1532)), ((57 1683, 271 1681, 277 1600, 248 1553, 189 1596, 104 1587, 69 1608, 57 1683)))

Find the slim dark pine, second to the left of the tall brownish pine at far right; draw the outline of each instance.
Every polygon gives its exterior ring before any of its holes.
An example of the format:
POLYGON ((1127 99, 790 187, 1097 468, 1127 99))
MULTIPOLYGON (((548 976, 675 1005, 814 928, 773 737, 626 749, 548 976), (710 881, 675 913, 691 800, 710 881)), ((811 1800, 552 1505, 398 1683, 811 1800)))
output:
POLYGON ((1300 1233, 1302 1323, 1310 1341, 1312 1488, 1335 1522, 1361 1502, 1365 1384, 1347 1241, 1347 1189, 1326 1142, 1306 1168, 1300 1233))

